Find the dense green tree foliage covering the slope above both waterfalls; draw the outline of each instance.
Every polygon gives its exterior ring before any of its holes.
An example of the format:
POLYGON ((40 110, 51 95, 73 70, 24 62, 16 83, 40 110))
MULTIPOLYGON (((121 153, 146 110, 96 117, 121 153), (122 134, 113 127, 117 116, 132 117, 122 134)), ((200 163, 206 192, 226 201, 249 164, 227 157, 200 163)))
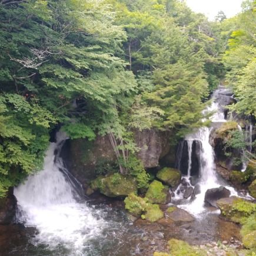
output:
MULTIPOLYGON (((255 71, 248 6, 224 65, 236 79, 237 109, 255 114, 252 98, 239 93, 253 90, 255 71), (241 51, 244 58, 232 61, 241 51)), ((234 25, 224 19, 210 22, 179 0, 1 0, 0 197, 41 168, 56 124, 72 139, 107 134, 120 171, 132 169, 147 187, 143 168, 131 167, 132 131, 154 127, 178 137, 202 124, 224 75, 220 53, 234 25)))

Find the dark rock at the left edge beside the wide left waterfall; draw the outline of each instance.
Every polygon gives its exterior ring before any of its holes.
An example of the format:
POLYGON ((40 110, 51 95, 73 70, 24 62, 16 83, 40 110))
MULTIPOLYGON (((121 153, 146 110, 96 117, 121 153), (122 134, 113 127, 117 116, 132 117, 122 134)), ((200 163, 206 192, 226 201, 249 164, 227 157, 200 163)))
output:
POLYGON ((0 198, 0 224, 10 224, 15 216, 17 200, 10 188, 5 198, 0 198))

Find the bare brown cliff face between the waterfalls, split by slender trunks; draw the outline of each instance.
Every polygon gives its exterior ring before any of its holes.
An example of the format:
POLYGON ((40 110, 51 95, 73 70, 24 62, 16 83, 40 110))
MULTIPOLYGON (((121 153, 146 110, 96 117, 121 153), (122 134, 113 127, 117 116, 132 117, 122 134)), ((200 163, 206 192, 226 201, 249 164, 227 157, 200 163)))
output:
MULTIPOLYGON (((135 142, 141 150, 138 158, 145 168, 154 168, 160 159, 175 164, 175 150, 170 147, 169 132, 159 132, 155 129, 134 132, 135 142)), ((72 175, 83 185, 95 178, 95 170, 105 166, 111 168, 116 161, 108 136, 97 137, 95 141, 87 139, 67 140, 61 152, 62 158, 72 175)))

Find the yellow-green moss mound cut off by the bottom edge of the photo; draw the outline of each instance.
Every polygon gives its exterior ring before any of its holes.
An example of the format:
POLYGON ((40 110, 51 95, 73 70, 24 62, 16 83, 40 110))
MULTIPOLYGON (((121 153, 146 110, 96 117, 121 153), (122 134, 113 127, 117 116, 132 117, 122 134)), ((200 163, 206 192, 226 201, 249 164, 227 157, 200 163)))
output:
POLYGON ((207 255, 206 251, 195 249, 191 247, 187 242, 171 239, 168 241, 170 254, 172 256, 204 256, 207 255))

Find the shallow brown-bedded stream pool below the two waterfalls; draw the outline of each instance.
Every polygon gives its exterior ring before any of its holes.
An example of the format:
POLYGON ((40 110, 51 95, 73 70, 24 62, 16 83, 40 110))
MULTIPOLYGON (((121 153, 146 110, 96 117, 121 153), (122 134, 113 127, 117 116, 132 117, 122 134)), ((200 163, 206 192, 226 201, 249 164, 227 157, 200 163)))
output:
MULTIPOLYGON (((209 208, 207 214, 194 222, 162 225, 143 220, 132 222, 120 204, 108 200, 101 204, 95 204, 94 201, 87 203, 86 207, 94 212, 93 216, 105 222, 105 226, 98 234, 85 239, 81 248, 56 237, 52 237, 54 243, 41 241, 36 227, 21 224, 0 226, 0 255, 149 256, 154 251, 165 251, 167 241, 171 238, 194 245, 229 241, 232 237, 240 240, 238 225, 221 220, 213 208, 209 208)), ((84 228, 86 234, 88 231, 84 228)))

